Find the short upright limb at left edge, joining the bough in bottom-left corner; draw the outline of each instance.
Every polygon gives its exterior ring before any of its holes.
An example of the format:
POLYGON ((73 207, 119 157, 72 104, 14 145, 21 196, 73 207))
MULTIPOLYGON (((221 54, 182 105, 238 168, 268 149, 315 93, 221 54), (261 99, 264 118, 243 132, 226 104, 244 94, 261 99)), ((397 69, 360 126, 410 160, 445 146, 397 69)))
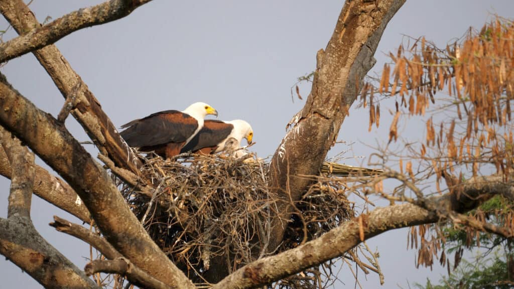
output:
POLYGON ((11 189, 7 218, 22 216, 30 219, 30 203, 34 183, 34 154, 20 140, 0 127, 0 142, 11 166, 11 189))

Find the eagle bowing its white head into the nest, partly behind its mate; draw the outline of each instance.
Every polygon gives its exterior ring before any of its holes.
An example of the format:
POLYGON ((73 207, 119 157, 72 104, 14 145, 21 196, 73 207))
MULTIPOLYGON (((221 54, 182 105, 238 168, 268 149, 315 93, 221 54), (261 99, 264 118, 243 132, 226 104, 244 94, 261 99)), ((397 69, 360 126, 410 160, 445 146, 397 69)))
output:
POLYGON ((239 148, 243 138, 246 138, 248 143, 251 143, 252 137, 252 127, 244 120, 206 120, 200 132, 180 152, 191 151, 193 153, 213 154, 223 151, 225 142, 228 139, 231 139, 232 142, 235 139, 235 143, 231 143, 231 147, 239 148))

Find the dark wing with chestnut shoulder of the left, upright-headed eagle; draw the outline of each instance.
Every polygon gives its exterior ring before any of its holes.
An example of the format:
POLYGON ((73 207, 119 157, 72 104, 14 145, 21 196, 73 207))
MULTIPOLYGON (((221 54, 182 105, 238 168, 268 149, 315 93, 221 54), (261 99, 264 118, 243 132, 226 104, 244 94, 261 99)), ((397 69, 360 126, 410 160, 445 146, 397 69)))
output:
POLYGON ((151 147, 185 142, 198 128, 192 116, 179 111, 162 111, 122 125, 121 137, 131 147, 151 147))

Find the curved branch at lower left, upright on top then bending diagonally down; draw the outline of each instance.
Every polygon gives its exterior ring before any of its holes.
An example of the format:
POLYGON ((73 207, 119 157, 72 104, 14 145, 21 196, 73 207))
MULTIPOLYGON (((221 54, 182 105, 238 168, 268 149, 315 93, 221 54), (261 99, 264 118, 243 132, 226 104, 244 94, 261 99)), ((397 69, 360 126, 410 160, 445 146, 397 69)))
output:
POLYGON ((8 219, 0 219, 0 254, 46 288, 97 287, 35 230, 30 221, 34 154, 3 128, 0 135, 13 175, 8 219))

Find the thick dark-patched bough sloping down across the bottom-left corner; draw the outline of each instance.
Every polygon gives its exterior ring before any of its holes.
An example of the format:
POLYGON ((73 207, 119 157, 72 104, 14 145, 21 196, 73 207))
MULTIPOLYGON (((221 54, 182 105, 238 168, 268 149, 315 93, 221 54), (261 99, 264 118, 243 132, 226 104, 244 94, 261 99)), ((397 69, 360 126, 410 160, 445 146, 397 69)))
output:
POLYGON ((0 254, 45 288, 99 288, 48 244, 28 218, 0 219, 0 254))

